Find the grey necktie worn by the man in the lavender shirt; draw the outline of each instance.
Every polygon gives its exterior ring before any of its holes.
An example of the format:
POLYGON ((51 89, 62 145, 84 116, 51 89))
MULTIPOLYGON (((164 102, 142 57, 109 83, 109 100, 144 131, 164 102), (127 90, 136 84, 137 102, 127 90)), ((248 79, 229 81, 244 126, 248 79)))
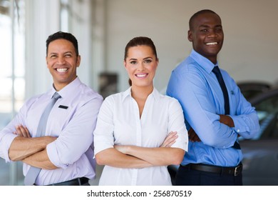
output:
MULTIPOLYGON (((44 136, 46 134, 46 124, 47 124, 48 115, 49 115, 52 107, 54 106, 54 104, 56 103, 56 101, 59 98, 61 98, 61 96, 57 92, 55 92, 52 96, 51 101, 46 106, 46 109, 43 111, 40 121, 38 122, 38 129, 37 129, 36 137, 44 136)), ((41 171, 41 168, 38 168, 36 166, 31 166, 25 176, 24 184, 26 186, 33 185, 35 183, 36 177, 38 176, 40 171, 41 171)))

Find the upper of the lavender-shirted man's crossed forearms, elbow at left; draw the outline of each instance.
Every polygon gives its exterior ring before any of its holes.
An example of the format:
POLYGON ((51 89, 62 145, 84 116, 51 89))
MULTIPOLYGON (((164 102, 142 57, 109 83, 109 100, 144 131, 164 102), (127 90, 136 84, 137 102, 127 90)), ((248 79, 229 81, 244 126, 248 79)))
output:
POLYGON ((54 141, 56 138, 51 136, 43 136, 37 138, 25 138, 18 136, 11 143, 9 149, 9 158, 12 161, 21 161, 38 151, 46 148, 46 145, 54 141))

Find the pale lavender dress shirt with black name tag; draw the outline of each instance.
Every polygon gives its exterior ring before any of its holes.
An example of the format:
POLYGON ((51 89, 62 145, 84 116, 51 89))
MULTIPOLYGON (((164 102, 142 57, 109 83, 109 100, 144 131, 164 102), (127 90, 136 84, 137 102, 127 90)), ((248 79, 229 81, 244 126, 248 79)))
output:
MULTIPOLYGON (((16 137, 13 134, 15 126, 26 126, 31 136, 36 137, 38 121, 55 92, 52 88, 26 101, 19 114, 0 132, 0 156, 6 162, 10 161, 9 147, 16 137)), ((46 136, 57 137, 56 141, 46 146, 46 151, 58 169, 42 169, 36 185, 54 184, 78 177, 93 179, 96 176, 93 130, 103 98, 78 78, 58 91, 58 94, 61 98, 53 106, 46 125, 46 136)), ((29 165, 24 164, 24 176, 29 168, 29 165)))

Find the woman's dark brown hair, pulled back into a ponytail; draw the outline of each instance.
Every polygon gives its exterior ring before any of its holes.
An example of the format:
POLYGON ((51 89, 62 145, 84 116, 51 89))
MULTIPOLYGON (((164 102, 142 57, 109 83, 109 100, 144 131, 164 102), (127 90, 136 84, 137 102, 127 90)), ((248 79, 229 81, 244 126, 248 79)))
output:
MULTIPOLYGON (((153 54, 155 55, 155 58, 158 59, 158 54, 156 53, 155 44, 153 44, 153 41, 145 36, 138 36, 133 39, 131 39, 128 44, 125 46, 125 57, 124 60, 128 57, 128 49, 133 46, 150 46, 150 48, 153 50, 153 54)), ((131 80, 128 79, 128 83, 131 86, 131 80)))

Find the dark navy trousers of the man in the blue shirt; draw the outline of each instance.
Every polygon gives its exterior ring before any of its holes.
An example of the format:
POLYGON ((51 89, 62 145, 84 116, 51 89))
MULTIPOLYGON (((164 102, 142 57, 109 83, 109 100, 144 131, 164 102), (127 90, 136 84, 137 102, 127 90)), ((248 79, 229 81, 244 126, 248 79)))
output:
POLYGON ((176 186, 242 186, 242 173, 237 176, 231 174, 214 174, 179 167, 175 176, 176 186))

